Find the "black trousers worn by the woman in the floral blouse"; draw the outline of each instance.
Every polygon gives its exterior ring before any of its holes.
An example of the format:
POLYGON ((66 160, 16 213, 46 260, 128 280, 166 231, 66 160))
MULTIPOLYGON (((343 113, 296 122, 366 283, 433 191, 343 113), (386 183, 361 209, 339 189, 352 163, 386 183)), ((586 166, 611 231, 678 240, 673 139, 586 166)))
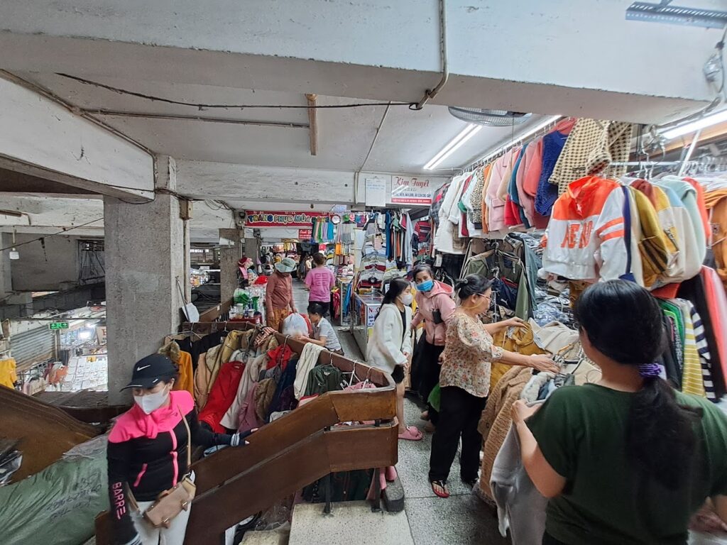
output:
POLYGON ((462 437, 460 477, 465 481, 477 478, 482 448, 482 435, 477 431, 477 425, 486 402, 486 397, 475 397, 462 388, 442 388, 439 422, 432 437, 432 454, 429 459, 430 482, 446 482, 454 456, 457 455, 459 437, 462 437))

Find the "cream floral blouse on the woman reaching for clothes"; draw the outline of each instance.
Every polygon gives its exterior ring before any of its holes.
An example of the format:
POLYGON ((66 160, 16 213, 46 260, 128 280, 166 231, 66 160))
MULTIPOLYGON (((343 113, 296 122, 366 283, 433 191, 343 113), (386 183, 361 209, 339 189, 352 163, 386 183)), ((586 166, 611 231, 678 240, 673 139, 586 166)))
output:
POLYGON ((502 348, 492 344, 483 324, 464 312, 455 312, 447 326, 441 387, 456 386, 475 397, 487 397, 492 361, 502 358, 502 348))

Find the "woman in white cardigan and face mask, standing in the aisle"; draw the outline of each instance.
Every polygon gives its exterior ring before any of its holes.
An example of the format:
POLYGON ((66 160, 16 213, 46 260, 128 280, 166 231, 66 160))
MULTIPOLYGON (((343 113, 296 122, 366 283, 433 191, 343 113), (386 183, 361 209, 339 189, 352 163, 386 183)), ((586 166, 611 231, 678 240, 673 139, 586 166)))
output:
POLYGON ((411 354, 411 286, 404 278, 394 278, 384 296, 366 348, 366 361, 371 367, 391 374, 396 383, 396 418, 399 439, 418 441, 422 432, 404 424, 404 369, 411 354))

